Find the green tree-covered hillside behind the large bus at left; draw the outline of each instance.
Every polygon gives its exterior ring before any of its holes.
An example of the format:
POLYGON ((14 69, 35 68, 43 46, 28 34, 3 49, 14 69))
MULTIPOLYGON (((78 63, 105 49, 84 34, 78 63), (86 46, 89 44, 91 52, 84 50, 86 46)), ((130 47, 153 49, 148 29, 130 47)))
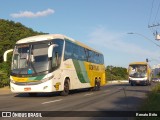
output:
POLYGON ((44 34, 42 32, 33 31, 19 22, 0 19, 0 87, 9 83, 11 54, 8 61, 3 62, 3 54, 6 50, 12 49, 17 40, 25 37, 44 34))

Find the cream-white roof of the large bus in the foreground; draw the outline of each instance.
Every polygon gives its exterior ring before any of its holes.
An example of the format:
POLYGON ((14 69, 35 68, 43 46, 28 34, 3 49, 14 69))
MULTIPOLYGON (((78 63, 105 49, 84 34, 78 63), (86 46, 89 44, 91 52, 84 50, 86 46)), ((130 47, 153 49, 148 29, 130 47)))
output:
MULTIPOLYGON (((92 48, 90 48, 89 46, 77 41, 77 40, 74 40, 72 38, 69 38, 65 35, 62 35, 62 34, 44 34, 44 35, 36 35, 36 36, 31 36, 31 37, 27 37, 27 38, 23 38, 23 39, 20 39, 16 42, 16 44, 23 44, 23 43, 31 43, 31 42, 40 42, 40 41, 47 41, 47 40, 53 40, 53 39, 63 39, 63 40, 69 40, 75 44, 78 44, 79 46, 82 46, 84 48, 87 48, 89 50, 93 50, 95 52, 98 52, 97 50, 94 50, 92 48)), ((98 53, 101 53, 101 52, 98 52, 98 53)))

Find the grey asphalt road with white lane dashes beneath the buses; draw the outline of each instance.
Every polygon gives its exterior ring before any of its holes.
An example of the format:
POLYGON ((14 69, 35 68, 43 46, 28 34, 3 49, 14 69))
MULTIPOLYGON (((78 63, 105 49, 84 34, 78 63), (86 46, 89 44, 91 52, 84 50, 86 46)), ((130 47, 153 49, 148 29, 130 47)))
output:
POLYGON ((39 120, 130 120, 133 118, 116 117, 116 114, 115 117, 106 118, 103 115, 107 112, 104 111, 112 111, 112 114, 114 111, 136 111, 146 98, 146 93, 149 93, 154 85, 155 83, 151 86, 130 86, 128 83, 109 84, 102 87, 100 91, 80 90, 72 92, 69 96, 60 96, 56 93, 38 94, 36 97, 30 97, 28 94, 4 94, 0 95, 0 111, 45 111, 44 115, 47 115, 46 111, 50 111, 49 116, 59 112, 58 117, 37 118, 39 120), (72 112, 69 113, 69 117, 66 117, 68 113, 63 111, 81 112, 72 112), (86 116, 88 114, 89 116, 86 116), (102 116, 92 117, 97 116, 96 114, 100 116, 102 114, 102 116))

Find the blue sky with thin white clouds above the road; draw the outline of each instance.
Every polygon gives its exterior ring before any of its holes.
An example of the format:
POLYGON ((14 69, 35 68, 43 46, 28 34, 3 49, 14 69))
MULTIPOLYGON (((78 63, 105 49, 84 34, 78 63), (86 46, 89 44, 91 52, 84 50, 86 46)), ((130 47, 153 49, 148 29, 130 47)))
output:
POLYGON ((159 8, 159 0, 1 0, 0 19, 64 34, 102 52, 106 66, 127 68, 146 58, 160 63, 160 26, 148 28, 160 23, 159 8))

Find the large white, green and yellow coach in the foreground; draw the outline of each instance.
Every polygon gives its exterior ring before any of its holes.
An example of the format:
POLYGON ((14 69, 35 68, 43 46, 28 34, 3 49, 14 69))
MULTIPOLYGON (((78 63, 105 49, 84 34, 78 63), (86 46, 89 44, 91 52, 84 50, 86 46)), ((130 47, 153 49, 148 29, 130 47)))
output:
POLYGON ((106 84, 103 54, 61 34, 28 37, 16 42, 10 75, 13 93, 100 89, 106 84))

